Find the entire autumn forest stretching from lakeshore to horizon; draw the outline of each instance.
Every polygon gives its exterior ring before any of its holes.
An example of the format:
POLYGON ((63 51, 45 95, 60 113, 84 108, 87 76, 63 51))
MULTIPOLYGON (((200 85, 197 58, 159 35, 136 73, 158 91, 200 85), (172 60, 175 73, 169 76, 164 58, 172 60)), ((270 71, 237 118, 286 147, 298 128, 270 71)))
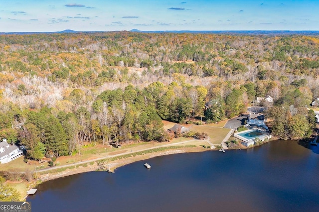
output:
POLYGON ((318 75, 318 36, 0 35, 0 138, 33 159, 167 141, 161 120, 218 122, 270 95, 272 133, 299 139, 316 125, 318 75))

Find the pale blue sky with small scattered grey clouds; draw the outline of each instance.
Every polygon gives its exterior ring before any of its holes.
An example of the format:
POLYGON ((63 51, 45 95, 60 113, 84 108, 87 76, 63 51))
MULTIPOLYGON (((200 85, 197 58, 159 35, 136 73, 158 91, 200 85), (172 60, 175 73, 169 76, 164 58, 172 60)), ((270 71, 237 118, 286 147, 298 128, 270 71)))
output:
POLYGON ((0 0, 0 32, 319 30, 319 0, 0 0))

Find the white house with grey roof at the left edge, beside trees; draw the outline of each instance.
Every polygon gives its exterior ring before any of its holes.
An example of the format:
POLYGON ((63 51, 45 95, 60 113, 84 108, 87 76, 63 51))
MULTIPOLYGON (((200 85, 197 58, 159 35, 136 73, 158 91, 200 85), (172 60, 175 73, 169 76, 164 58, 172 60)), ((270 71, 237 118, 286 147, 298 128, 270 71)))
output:
POLYGON ((0 142, 0 163, 8 163, 22 155, 23 151, 16 145, 8 144, 5 139, 0 142))

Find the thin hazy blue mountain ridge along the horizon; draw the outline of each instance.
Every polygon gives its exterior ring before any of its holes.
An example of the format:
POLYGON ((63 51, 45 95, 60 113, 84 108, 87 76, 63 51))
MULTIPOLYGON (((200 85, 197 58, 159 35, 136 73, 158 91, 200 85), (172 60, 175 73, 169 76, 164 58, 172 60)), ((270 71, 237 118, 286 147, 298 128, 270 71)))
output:
MULTIPOLYGON (((123 30, 125 31, 125 30, 123 30)), ((53 34, 53 33, 101 33, 111 31, 75 31, 65 29, 56 32, 0 32, 2 34, 53 34)), ((130 32, 141 33, 194 33, 194 34, 240 34, 240 35, 319 35, 319 31, 307 30, 155 30, 155 31, 142 31, 139 29, 132 29, 130 32)))

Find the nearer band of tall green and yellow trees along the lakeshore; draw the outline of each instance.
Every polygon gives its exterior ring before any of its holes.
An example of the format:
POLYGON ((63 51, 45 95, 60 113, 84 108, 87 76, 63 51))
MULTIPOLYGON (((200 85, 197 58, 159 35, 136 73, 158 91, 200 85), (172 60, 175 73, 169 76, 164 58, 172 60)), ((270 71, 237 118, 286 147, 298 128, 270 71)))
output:
MULTIPOLYGON (((73 89, 56 103, 58 107, 21 109, 2 103, 0 137, 26 146, 28 157, 33 159, 72 155, 87 144, 168 141, 174 135, 164 132, 161 120, 201 124, 203 117, 218 122, 246 111, 260 95, 258 86, 251 82, 238 88, 215 82, 206 88, 176 81, 166 86, 156 82, 143 89, 129 85, 124 90, 105 90, 94 101, 81 89, 73 89)), ((298 87, 300 84, 285 88, 270 84, 265 94, 282 90, 275 106, 263 103, 269 109, 268 116, 275 119, 274 134, 281 138, 309 135, 315 127, 315 115, 306 108, 311 91, 298 87)))

